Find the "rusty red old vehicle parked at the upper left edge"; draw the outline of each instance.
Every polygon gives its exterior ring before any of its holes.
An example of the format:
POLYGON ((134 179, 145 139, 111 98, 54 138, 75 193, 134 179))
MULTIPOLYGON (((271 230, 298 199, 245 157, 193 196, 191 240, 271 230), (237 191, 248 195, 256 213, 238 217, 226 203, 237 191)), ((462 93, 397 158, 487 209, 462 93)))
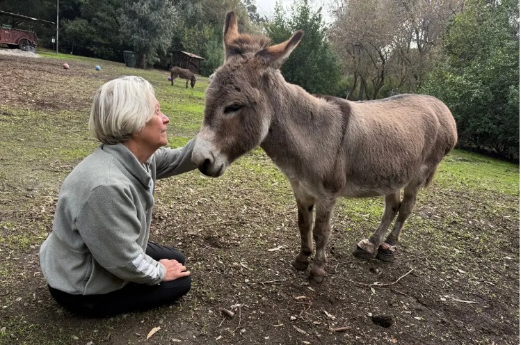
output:
POLYGON ((0 10, 0 43, 9 48, 18 48, 34 53, 38 46, 38 36, 35 33, 36 22, 54 24, 54 22, 47 20, 0 10))

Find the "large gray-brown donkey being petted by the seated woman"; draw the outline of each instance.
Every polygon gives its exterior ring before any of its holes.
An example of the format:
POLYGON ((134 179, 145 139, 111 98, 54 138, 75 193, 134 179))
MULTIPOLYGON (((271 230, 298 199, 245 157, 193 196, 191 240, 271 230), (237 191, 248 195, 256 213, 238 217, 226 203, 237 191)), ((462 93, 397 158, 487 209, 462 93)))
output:
POLYGON ((337 198, 384 196, 380 225, 353 254, 392 261, 419 189, 431 182, 457 133, 451 112, 435 97, 350 102, 313 96, 287 83, 279 68, 302 37, 303 31, 296 31, 286 42, 270 45, 264 36, 239 34, 234 13, 227 13, 225 61, 206 91, 192 161, 203 174, 218 177, 260 145, 289 179, 296 198, 301 246, 294 267, 307 268, 314 239, 310 277, 322 282, 337 198))

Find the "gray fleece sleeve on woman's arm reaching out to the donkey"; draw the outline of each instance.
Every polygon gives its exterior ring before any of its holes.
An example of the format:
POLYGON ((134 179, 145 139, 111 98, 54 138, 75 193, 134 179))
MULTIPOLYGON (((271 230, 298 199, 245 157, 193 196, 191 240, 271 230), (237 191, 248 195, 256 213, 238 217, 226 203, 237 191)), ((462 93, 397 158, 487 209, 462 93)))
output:
POLYGON ((186 143, 184 147, 170 149, 168 147, 160 147, 154 153, 156 161, 156 178, 162 179, 173 175, 179 175, 197 168, 192 163, 192 151, 197 137, 186 143))

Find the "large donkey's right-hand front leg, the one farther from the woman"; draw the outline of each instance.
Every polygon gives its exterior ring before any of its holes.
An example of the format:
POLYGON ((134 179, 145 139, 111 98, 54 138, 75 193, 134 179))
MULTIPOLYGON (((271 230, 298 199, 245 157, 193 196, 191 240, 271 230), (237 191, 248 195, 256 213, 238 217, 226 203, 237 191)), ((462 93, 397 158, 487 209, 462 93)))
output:
POLYGON ((313 228, 313 239, 315 240, 316 252, 313 259, 313 268, 310 278, 316 282, 322 282, 326 275, 326 245, 331 234, 331 214, 335 207, 336 199, 320 200, 316 203, 315 225, 313 228))

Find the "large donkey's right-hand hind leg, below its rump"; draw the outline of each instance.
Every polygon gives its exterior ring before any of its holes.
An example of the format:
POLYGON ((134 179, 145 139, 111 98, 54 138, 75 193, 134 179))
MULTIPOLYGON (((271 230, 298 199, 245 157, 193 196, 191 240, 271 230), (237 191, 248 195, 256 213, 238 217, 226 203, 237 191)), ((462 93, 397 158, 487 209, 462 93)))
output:
POLYGON ((394 260, 394 250, 396 250, 396 243, 398 243, 400 239, 403 224, 407 218, 409 218, 412 209, 415 207, 416 195, 419 189, 422 188, 422 185, 423 183, 408 184, 406 188, 403 189, 403 200, 401 200, 398 218, 396 218, 396 223, 394 223, 390 234, 387 235, 385 242, 381 243, 380 247, 378 247, 378 253, 376 254, 377 259, 385 262, 392 262, 394 260))

